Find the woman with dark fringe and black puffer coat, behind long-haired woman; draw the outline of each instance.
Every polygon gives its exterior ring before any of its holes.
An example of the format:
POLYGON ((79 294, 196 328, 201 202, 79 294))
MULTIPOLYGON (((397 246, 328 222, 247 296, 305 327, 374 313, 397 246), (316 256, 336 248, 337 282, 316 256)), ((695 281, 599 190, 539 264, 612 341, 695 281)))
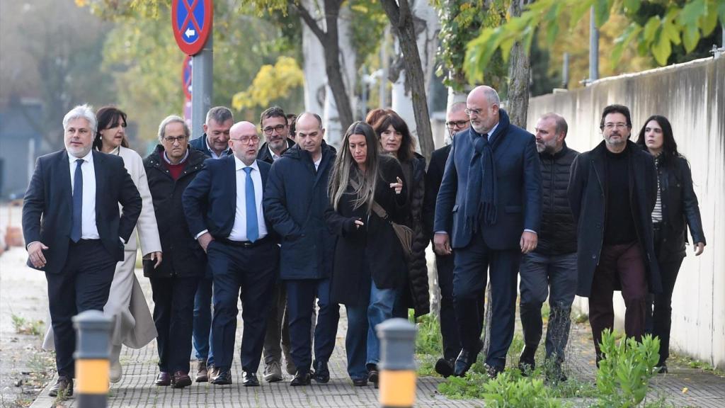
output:
MULTIPOLYGON (((405 224, 413 229, 413 253, 408 259, 407 279, 399 293, 393 315, 407 319, 407 309, 415 311, 415 317, 428 314, 428 266, 426 247, 430 237, 423 226, 423 198, 426 195, 426 159, 415 152, 415 139, 410 135, 407 123, 393 110, 378 115, 376 123, 370 123, 378 135, 384 153, 397 158, 403 169, 403 182, 407 189, 410 212, 405 224)), ((370 115, 368 115, 370 116, 370 115)))

